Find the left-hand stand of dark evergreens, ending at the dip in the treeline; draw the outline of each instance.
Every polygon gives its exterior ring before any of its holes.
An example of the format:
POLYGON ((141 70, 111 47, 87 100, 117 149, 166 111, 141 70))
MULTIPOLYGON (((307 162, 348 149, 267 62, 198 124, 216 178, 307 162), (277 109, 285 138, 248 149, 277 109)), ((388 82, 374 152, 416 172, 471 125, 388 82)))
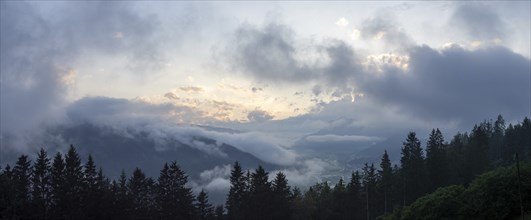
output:
POLYGON ((22 155, 0 174, 0 219, 223 219, 223 207, 187 182, 176 162, 156 181, 139 168, 110 181, 90 155, 82 165, 72 145, 53 159, 41 149, 34 163, 22 155))

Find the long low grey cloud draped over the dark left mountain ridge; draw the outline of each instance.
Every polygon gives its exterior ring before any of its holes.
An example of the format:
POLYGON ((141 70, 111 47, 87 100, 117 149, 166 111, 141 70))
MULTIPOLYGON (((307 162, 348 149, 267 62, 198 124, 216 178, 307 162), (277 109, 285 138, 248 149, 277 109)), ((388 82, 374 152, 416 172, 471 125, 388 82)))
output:
POLYGON ((264 133, 226 133, 187 126, 185 124, 192 122, 208 124, 215 123, 216 120, 204 117, 193 108, 170 103, 152 104, 142 100, 87 97, 72 103, 67 108, 67 116, 72 123, 92 123, 124 132, 143 133, 153 139, 158 150, 165 150, 167 141, 177 139, 201 151, 220 156, 223 153, 219 152, 218 147, 226 143, 273 164, 289 165, 297 158, 295 153, 281 147, 278 144, 280 141, 264 133), (198 137, 216 140, 216 144, 198 141, 198 137))

